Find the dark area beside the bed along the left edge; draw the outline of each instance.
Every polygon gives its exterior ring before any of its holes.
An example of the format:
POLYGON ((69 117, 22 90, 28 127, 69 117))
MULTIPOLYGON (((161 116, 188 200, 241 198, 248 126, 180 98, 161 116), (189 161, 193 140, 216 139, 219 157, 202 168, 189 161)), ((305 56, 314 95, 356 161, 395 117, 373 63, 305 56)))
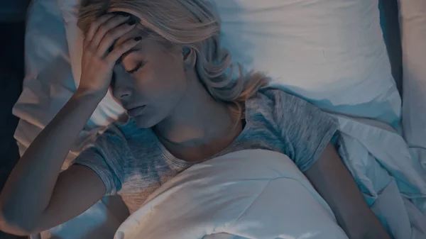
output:
MULTIPOLYGON (((21 94, 24 76, 23 37, 29 0, 0 0, 0 191, 19 159, 13 133, 18 118, 13 104, 21 94)), ((0 239, 16 239, 0 231, 0 239)))

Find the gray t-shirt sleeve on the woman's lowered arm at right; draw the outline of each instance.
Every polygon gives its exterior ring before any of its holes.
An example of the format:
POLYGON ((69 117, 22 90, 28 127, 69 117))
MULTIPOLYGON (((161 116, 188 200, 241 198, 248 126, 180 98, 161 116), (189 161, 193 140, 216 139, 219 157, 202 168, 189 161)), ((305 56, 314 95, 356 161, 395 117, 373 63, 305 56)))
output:
POLYGON ((322 155, 325 146, 338 137, 335 118, 317 106, 281 90, 275 95, 275 120, 284 140, 285 154, 305 172, 322 155))

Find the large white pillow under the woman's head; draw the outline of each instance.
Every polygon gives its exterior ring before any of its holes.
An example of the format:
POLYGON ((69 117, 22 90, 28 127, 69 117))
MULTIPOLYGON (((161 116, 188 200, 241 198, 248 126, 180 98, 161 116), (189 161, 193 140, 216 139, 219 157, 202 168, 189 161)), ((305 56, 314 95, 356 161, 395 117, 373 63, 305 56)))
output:
MULTIPOLYGON (((398 125, 400 96, 379 23, 378 0, 212 0, 222 16, 223 46, 247 70, 329 111, 398 125)), ((77 0, 58 1, 72 70, 80 80, 82 34, 77 0)), ((92 121, 124 113, 111 96, 92 121), (93 120, 95 119, 95 120, 93 120)))

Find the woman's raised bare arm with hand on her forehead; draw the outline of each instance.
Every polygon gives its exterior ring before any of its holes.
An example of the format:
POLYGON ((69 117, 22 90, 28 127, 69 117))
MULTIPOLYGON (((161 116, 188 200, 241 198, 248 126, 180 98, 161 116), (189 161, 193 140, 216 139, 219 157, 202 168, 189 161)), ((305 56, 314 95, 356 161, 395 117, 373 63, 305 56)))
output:
POLYGON ((97 104, 107 94, 112 69, 138 42, 129 39, 107 54, 114 40, 133 26, 128 18, 106 15, 84 40, 79 89, 35 138, 12 170, 0 194, 0 230, 19 235, 40 232, 78 216, 102 198, 106 188, 96 173, 63 161, 97 104), (121 26, 120 26, 121 25, 121 26))

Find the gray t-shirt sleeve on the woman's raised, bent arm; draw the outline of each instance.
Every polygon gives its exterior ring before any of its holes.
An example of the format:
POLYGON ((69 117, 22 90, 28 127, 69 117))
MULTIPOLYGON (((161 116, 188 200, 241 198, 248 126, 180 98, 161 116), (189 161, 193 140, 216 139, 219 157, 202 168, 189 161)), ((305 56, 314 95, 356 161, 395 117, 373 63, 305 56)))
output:
POLYGON ((74 164, 92 169, 104 182, 107 189, 105 196, 111 196, 121 190, 121 182, 124 180, 121 161, 126 157, 125 147, 124 136, 118 128, 110 126, 93 145, 80 153, 74 164))

